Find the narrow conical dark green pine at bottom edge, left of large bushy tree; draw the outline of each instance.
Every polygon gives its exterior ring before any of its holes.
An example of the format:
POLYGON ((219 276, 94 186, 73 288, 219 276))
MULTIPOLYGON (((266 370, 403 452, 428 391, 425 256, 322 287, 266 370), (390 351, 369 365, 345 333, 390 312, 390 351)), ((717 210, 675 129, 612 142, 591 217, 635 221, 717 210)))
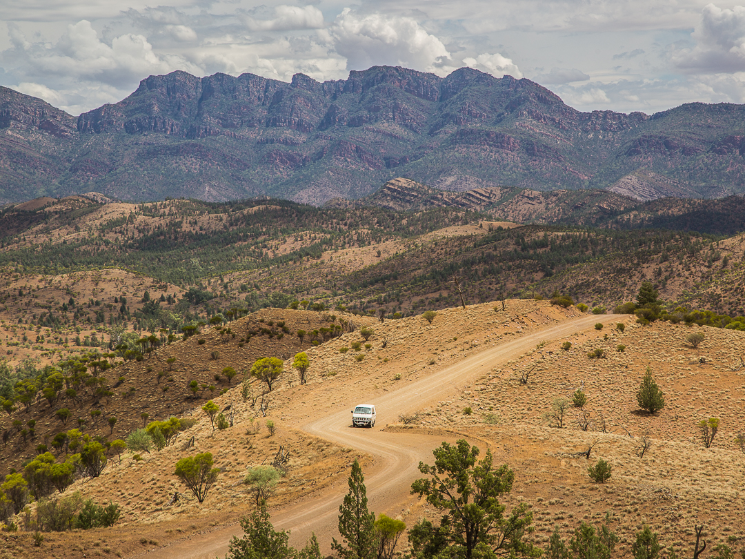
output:
POLYGON ((375 535, 375 514, 367 510, 367 490, 362 468, 355 459, 349 476, 349 493, 339 506, 339 534, 343 543, 334 538, 332 549, 340 559, 374 559, 378 552, 375 535))

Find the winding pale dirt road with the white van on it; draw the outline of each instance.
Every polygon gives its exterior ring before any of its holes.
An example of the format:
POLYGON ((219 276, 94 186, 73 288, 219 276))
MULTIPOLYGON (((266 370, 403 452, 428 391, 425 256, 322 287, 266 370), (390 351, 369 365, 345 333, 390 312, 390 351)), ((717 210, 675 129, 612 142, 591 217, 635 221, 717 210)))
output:
MULTIPOLYGON (((511 341, 490 347, 457 364, 443 368, 416 382, 402 385, 379 397, 375 397, 378 418, 373 429, 355 429, 351 426, 351 406, 320 417, 302 426, 302 430, 326 440, 352 447, 375 457, 375 464, 365 471, 365 486, 369 507, 375 513, 395 516, 402 503, 410 496, 411 482, 419 477, 419 461, 431 461, 432 449, 439 446, 442 436, 424 436, 408 433, 387 433, 383 426, 396 423, 399 414, 448 399, 463 390, 464 385, 486 375, 493 367, 499 367, 515 359, 541 341, 565 338, 582 330, 592 329, 595 323, 610 323, 623 318, 621 315, 589 315, 557 323, 554 326, 523 335, 511 341)), ((360 394, 359 401, 366 399, 360 394)), ((311 532, 315 532, 321 543, 321 551, 329 551, 336 530, 339 505, 346 494, 346 483, 336 484, 323 490, 312 501, 299 502, 271 511, 275 528, 291 530, 290 543, 296 547, 305 545, 311 532)), ((238 519, 236 519, 237 521, 238 519)), ((180 540, 169 546, 152 549, 143 554, 148 558, 213 559, 224 557, 231 537, 241 537, 243 530, 238 522, 203 534, 194 534, 188 540, 180 540)))

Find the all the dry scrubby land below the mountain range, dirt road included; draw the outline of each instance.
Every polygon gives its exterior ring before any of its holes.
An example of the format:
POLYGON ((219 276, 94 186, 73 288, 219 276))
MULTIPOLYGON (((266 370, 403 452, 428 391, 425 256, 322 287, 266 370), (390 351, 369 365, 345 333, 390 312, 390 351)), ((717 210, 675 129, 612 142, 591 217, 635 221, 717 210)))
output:
POLYGON ((315 533, 328 555, 355 460, 371 510, 411 528, 437 518, 410 494, 416 465, 461 438, 513 469, 502 500, 532 512, 535 546, 604 523, 626 557, 650 525, 690 555, 703 524, 711 549, 743 551, 745 237, 722 218, 692 227, 688 210, 717 215, 716 200, 596 194, 461 197, 399 180, 325 207, 95 193, 7 206, 0 473, 98 443, 100 475, 40 500, 79 492, 120 515, 37 532, 30 499, 28 515, 7 516, 0 558, 223 556, 256 506, 244 478, 280 458, 272 522, 297 548, 315 533), (663 203, 677 228, 647 227, 663 203), (635 315, 627 303, 647 283, 659 301, 635 315), (250 375, 264 358, 282 364, 273 385, 250 375), (635 398, 647 367, 665 395, 656 414, 635 398), (361 401, 378 407, 373 429, 349 427, 361 401), (180 430, 164 446, 115 443, 171 417, 180 430), (202 452, 219 473, 199 503, 174 470, 202 452), (602 484, 588 476, 600 458, 602 484))

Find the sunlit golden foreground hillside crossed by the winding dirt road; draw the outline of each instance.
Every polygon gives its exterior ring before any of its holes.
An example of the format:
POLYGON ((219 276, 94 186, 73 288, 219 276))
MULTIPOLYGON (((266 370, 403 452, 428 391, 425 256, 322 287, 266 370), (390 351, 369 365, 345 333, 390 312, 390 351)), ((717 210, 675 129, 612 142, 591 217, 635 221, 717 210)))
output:
MULTIPOLYGON (((97 553, 203 557, 212 549, 223 555, 227 534, 241 534, 237 520, 248 512, 247 487, 241 479, 248 467, 267 463, 282 446, 291 459, 270 498, 272 519, 292 528, 295 546, 304 545, 312 528, 327 553, 330 537, 337 537, 335 514, 355 458, 363 464, 376 514, 398 517, 408 527, 422 516, 437 519, 436 511, 410 495, 408 476, 395 491, 381 490, 378 474, 384 471, 385 458, 377 454, 375 441, 386 449, 398 448, 409 458, 421 455, 431 464, 425 449, 442 440, 468 438, 482 452, 491 449, 495 464, 514 470, 513 490, 501 500, 508 508, 518 502, 530 506, 536 529, 528 537, 539 546, 548 545, 555 527, 568 540, 584 520, 594 525, 606 522, 618 534, 612 557, 630 555, 642 523, 659 533, 663 546, 687 553, 693 549, 692 527, 703 522, 708 545, 726 544, 741 551, 738 534, 745 529, 745 502, 738 488, 744 481, 744 458, 734 439, 745 429, 744 408, 739 405, 745 399, 739 360, 745 350, 743 332, 669 323, 640 326, 629 317, 588 318, 583 328, 570 327, 565 335, 542 338, 548 329, 582 320, 580 313, 545 301, 507 300, 504 311, 489 303, 444 309, 431 323, 422 317, 377 323, 370 348, 359 351, 340 352, 353 341, 364 341, 359 332, 344 333, 307 350, 311 367, 306 385, 288 382, 294 373, 285 361, 286 372, 270 393, 266 418, 276 424, 274 435, 267 433, 261 414, 257 422, 256 408, 243 402, 240 388, 232 388, 215 400, 221 409, 232 404, 235 426, 212 435, 206 416, 186 409, 183 416, 194 417, 197 423, 177 444, 145 455, 142 461, 125 452, 121 463, 112 458, 100 477, 76 481, 63 494, 81 490, 97 502, 118 502, 123 515, 113 528, 45 533, 40 547, 34 546, 33 533, 19 531, 7 534, 1 545, 5 553, 29 559, 50 553, 63 558, 97 553), (605 326, 593 328, 596 320, 605 326), (615 326, 619 321, 623 330, 615 326), (685 342, 691 328, 705 334, 696 349, 685 342), (519 354, 498 353, 521 338, 530 343, 517 346, 522 347, 519 354), (561 348, 565 341, 571 344, 569 350, 561 348), (618 344, 624 344, 623 352, 616 349, 618 344), (606 357, 589 359, 586 353, 595 348, 606 350, 606 357), (492 357, 485 367, 472 370, 467 365, 486 353, 492 357), (634 398, 646 367, 651 367, 665 393, 665 408, 655 416, 638 410, 634 398), (456 371, 451 382, 443 383, 447 397, 431 401, 409 394, 408 386, 418 387, 447 370, 456 371), (526 384, 520 382, 521 373, 528 375, 526 384), (544 414, 551 411, 554 399, 571 399, 578 388, 589 397, 586 407, 569 408, 562 429, 549 426, 544 414), (382 402, 396 394, 408 395, 408 404, 401 408, 411 416, 407 424, 397 417, 399 410, 381 408, 375 429, 348 429, 346 422, 335 425, 329 438, 344 440, 351 432, 347 443, 331 443, 303 430, 323 417, 348 418, 349 405, 363 398, 382 402), (583 411, 590 418, 586 428, 580 421, 583 411), (704 448, 696 427, 707 417, 721 419, 710 448, 704 448), (639 458, 643 435, 651 446, 639 458), (371 454, 355 448, 362 439, 373 445, 371 454), (577 455, 589 445, 590 461, 577 455), (176 461, 207 450, 215 455, 221 474, 203 505, 184 497, 169 504, 174 491, 184 490, 172 473, 176 461), (587 475, 588 464, 597 458, 612 464, 612 477, 605 484, 593 484, 587 475), (284 524, 298 506, 317 518, 309 525, 284 524)), ((188 345, 170 348, 180 352, 188 345)))

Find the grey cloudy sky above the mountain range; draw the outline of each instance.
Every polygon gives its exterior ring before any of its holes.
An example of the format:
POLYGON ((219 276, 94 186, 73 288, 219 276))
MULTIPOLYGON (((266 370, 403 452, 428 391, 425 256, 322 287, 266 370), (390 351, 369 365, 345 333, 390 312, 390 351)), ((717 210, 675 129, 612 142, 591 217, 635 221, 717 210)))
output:
POLYGON ((2 28, 0 85, 74 115, 176 69, 380 64, 529 78, 580 110, 745 102, 745 7, 724 0, 0 0, 2 28))

